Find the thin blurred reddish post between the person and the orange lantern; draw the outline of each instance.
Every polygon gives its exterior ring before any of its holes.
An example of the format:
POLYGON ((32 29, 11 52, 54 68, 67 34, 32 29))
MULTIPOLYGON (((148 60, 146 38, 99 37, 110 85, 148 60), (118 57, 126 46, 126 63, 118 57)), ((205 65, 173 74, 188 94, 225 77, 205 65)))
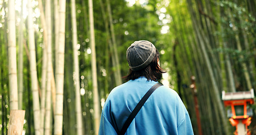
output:
POLYGON ((199 133, 199 135, 203 135, 202 128, 201 128, 200 115, 199 115, 199 105, 198 105, 198 102, 197 102, 197 89, 196 89, 195 79, 196 79, 195 76, 191 77, 192 84, 190 85, 190 88, 192 89, 192 94, 193 94, 193 97, 194 97, 198 133, 199 133))

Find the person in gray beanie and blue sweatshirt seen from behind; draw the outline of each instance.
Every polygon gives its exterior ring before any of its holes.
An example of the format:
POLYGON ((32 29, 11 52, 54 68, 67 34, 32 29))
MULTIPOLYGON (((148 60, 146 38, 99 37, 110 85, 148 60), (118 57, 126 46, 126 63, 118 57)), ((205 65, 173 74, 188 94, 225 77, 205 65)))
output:
POLYGON ((129 119, 142 97, 147 95, 151 87, 159 84, 158 80, 165 70, 159 65, 158 50, 147 40, 131 44, 126 57, 129 74, 124 79, 127 82, 115 87, 107 97, 98 134, 194 134, 190 116, 181 98, 176 91, 162 84, 141 105, 135 118, 129 119), (127 124, 127 121, 131 121, 131 124, 127 124))

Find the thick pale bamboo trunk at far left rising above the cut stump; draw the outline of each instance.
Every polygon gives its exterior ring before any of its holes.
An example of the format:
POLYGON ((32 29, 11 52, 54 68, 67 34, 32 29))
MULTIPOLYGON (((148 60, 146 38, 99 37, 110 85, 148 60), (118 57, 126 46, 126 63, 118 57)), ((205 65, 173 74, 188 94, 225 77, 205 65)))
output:
POLYGON ((8 73, 10 88, 10 109, 18 109, 17 59, 16 59, 16 26, 15 1, 8 1, 8 73))

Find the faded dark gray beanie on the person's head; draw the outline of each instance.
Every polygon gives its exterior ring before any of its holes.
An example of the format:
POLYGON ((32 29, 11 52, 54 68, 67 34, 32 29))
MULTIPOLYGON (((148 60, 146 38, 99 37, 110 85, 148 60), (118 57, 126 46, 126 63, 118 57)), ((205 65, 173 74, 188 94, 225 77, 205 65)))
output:
POLYGON ((146 66, 154 59, 155 54, 156 48, 154 44, 147 40, 139 40, 128 47, 126 59, 130 69, 138 71, 146 68, 146 66))

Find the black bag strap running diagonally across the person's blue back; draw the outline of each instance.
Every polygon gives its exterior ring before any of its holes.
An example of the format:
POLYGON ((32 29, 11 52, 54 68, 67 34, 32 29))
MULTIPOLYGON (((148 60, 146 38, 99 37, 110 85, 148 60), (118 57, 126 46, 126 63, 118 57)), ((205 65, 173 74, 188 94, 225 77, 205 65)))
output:
POLYGON ((150 97, 150 95, 160 86, 163 86, 163 84, 161 83, 156 83, 154 86, 152 86, 149 91, 147 91, 147 93, 141 98, 141 101, 138 102, 137 106, 134 108, 134 110, 132 111, 132 113, 129 115, 129 117, 127 118, 127 120, 125 121, 123 128, 121 129, 121 131, 119 132, 119 135, 123 135, 129 125, 132 123, 132 120, 135 118, 135 116, 138 114, 138 111, 141 110, 141 107, 145 104, 145 102, 147 101, 147 99, 150 97))

